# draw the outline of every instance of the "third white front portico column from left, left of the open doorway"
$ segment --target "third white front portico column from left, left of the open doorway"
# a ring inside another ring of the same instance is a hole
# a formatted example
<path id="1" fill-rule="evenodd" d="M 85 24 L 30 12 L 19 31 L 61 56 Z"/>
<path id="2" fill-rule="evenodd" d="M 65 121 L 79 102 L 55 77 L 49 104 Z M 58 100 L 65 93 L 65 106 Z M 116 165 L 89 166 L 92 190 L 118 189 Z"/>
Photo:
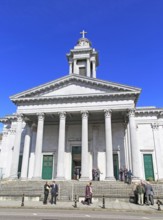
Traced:
<path id="1" fill-rule="evenodd" d="M 66 113 L 59 113 L 59 140 L 58 140 L 58 160 L 57 160 L 57 180 L 65 180 L 64 154 L 65 154 L 65 128 Z"/>

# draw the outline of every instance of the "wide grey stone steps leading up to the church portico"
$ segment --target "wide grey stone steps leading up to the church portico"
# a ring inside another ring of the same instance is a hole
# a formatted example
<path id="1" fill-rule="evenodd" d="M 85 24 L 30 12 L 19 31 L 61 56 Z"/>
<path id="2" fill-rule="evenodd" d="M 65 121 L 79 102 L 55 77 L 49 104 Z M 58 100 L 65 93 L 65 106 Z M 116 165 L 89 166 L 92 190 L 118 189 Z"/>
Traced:
<path id="1" fill-rule="evenodd" d="M 0 199 L 16 199 L 24 194 L 28 198 L 39 198 L 43 200 L 44 184 L 46 181 L 1 181 Z M 51 183 L 51 181 L 49 181 Z M 77 198 L 84 197 L 85 186 L 88 182 L 82 181 L 62 181 L 59 185 L 58 199 L 61 201 L 73 201 L 75 195 Z M 108 198 L 129 199 L 133 195 L 133 185 L 128 185 L 120 181 L 92 181 L 93 197 L 102 198 L 104 195 Z M 163 184 L 153 184 L 155 197 L 163 198 Z"/>

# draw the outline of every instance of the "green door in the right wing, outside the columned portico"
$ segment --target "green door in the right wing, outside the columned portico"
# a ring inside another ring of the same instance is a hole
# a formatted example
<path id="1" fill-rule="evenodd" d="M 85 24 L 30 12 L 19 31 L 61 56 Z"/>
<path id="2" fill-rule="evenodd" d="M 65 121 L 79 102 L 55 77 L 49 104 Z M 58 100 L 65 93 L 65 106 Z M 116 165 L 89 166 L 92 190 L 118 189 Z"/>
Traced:
<path id="1" fill-rule="evenodd" d="M 145 179 L 154 180 L 152 154 L 144 154 Z"/>

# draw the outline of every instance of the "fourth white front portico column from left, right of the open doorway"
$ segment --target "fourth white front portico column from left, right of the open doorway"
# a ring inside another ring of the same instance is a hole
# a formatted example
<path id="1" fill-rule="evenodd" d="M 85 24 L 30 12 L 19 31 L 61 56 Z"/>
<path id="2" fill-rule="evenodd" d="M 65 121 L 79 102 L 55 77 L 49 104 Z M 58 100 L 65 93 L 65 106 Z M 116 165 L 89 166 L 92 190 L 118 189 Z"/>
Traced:
<path id="1" fill-rule="evenodd" d="M 81 181 L 89 180 L 88 164 L 88 112 L 82 114 L 82 155 L 81 155 Z"/>

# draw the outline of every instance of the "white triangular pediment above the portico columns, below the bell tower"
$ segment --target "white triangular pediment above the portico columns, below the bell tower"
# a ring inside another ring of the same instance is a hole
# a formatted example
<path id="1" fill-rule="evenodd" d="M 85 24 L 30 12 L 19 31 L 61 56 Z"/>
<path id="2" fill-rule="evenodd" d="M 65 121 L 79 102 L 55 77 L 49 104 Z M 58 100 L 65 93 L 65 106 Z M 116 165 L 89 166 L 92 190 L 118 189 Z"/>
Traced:
<path id="1" fill-rule="evenodd" d="M 16 94 L 12 101 L 35 98 L 59 98 L 77 96 L 96 96 L 109 94 L 140 93 L 140 89 L 116 84 L 99 79 L 83 77 L 79 75 L 69 75 L 52 82 L 43 84 L 33 89 Z"/>

